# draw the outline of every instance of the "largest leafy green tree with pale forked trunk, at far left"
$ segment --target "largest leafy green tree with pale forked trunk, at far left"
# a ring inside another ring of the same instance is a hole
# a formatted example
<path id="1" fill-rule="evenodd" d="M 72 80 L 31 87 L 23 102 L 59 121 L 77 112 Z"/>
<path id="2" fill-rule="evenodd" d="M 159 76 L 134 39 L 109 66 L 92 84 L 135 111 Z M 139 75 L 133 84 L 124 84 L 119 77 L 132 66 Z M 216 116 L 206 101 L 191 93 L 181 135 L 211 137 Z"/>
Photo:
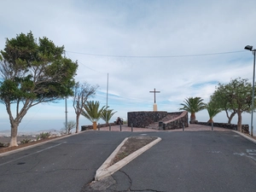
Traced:
<path id="1" fill-rule="evenodd" d="M 78 65 L 63 52 L 64 46 L 37 40 L 32 32 L 7 38 L 0 56 L 0 102 L 9 114 L 10 146 L 17 146 L 18 126 L 30 108 L 73 95 Z"/>

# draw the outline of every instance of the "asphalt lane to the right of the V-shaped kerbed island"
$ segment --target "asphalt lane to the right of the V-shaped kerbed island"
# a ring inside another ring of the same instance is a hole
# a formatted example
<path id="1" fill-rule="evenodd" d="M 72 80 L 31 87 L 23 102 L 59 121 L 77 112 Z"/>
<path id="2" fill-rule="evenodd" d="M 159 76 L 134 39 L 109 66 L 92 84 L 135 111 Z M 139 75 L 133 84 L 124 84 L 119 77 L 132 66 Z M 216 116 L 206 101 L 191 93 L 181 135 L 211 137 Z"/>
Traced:
<path id="1" fill-rule="evenodd" d="M 106 191 L 256 191 L 256 144 L 235 132 L 148 135 L 162 141 L 115 172 Z"/>

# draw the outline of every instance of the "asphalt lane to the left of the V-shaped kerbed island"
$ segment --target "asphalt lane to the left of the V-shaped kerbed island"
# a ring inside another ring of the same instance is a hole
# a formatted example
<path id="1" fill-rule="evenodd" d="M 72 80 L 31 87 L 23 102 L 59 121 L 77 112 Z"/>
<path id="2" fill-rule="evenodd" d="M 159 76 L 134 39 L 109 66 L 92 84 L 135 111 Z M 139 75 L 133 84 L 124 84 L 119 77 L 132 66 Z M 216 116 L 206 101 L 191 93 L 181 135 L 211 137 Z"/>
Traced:
<path id="1" fill-rule="evenodd" d="M 80 191 L 130 135 L 87 131 L 0 157 L 0 191 Z"/>

